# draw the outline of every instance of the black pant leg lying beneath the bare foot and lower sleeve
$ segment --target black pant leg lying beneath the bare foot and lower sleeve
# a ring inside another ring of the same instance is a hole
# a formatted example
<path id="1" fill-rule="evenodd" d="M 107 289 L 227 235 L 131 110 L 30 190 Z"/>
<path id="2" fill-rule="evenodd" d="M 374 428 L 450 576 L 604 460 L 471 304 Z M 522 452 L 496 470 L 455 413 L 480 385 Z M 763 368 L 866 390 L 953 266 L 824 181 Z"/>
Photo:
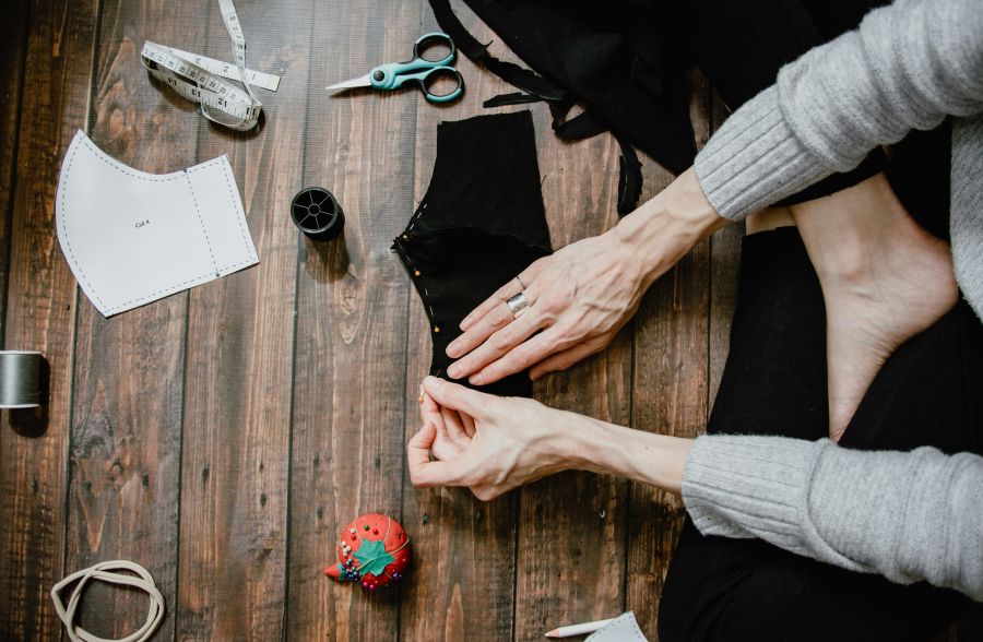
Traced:
<path id="1" fill-rule="evenodd" d="M 822 293 L 795 228 L 744 240 L 731 352 L 707 431 L 827 435 Z M 840 443 L 983 453 L 983 326 L 960 301 L 901 346 Z M 660 640 L 931 640 L 968 606 L 757 539 L 702 536 L 687 519 L 660 604 Z"/>

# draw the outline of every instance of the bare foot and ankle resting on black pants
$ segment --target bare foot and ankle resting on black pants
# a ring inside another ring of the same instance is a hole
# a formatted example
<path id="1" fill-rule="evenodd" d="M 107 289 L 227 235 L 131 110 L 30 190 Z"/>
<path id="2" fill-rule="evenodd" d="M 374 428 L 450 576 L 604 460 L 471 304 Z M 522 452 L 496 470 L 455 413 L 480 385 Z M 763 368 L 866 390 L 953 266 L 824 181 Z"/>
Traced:
<path id="1" fill-rule="evenodd" d="M 883 176 L 792 212 L 826 299 L 836 441 L 887 358 L 956 304 L 952 257 L 912 221 Z"/>

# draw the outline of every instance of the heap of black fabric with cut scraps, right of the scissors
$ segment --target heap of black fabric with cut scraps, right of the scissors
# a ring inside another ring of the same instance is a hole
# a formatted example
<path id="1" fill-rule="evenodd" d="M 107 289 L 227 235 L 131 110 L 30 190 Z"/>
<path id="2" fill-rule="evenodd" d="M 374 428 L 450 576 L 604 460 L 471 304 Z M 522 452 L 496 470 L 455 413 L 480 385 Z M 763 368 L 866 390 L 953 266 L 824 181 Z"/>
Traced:
<path id="1" fill-rule="evenodd" d="M 448 0 L 430 0 L 440 27 L 455 43 L 472 45 L 461 51 L 528 92 L 493 98 L 488 106 L 544 99 L 550 104 L 557 135 L 578 140 L 611 130 L 619 139 L 619 214 L 636 207 L 641 191 L 640 165 L 631 145 L 677 174 L 692 164 L 696 146 L 686 80 L 672 49 L 662 47 L 666 23 L 660 15 L 624 1 L 602 5 L 596 0 L 467 0 L 467 4 L 548 87 L 562 91 L 541 92 L 514 69 L 502 72 L 501 61 L 485 46 L 473 46 L 477 40 Z M 567 120 L 576 99 L 583 99 L 587 111 Z"/>

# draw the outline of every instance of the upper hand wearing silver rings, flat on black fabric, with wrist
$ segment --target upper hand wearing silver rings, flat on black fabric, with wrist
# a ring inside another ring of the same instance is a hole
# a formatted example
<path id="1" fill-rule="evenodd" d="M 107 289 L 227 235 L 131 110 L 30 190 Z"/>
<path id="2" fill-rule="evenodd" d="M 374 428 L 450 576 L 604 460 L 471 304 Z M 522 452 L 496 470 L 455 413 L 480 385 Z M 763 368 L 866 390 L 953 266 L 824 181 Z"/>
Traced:
<path id="1" fill-rule="evenodd" d="M 458 358 L 448 374 L 484 385 L 530 368 L 537 379 L 604 349 L 646 289 L 723 223 L 687 171 L 613 229 L 540 259 L 475 308 L 447 347 Z M 529 307 L 517 318 L 506 300 L 519 292 Z"/>

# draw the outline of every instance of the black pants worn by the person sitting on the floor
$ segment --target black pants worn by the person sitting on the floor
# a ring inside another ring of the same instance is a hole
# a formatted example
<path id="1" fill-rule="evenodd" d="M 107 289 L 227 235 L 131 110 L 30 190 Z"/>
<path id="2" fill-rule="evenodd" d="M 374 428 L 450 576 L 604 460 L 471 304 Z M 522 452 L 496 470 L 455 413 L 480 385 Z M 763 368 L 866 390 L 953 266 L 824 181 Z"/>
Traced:
<path id="1" fill-rule="evenodd" d="M 880 2 L 698 3 L 707 11 L 701 67 L 732 107 L 768 86 L 785 59 L 858 24 Z M 745 11 L 748 10 L 749 11 Z M 738 22 L 744 28 L 729 28 Z M 757 25 L 749 28 L 750 24 Z M 798 47 L 804 46 L 803 50 Z M 949 131 L 915 132 L 855 170 L 796 194 L 831 193 L 885 171 L 926 229 L 948 237 Z M 983 452 L 983 325 L 960 301 L 902 346 L 871 385 L 840 443 L 855 449 Z M 707 431 L 815 440 L 828 432 L 825 304 L 795 228 L 744 240 L 731 352 Z M 765 542 L 703 537 L 687 519 L 659 613 L 660 639 L 931 640 L 969 599 L 893 584 Z"/>

